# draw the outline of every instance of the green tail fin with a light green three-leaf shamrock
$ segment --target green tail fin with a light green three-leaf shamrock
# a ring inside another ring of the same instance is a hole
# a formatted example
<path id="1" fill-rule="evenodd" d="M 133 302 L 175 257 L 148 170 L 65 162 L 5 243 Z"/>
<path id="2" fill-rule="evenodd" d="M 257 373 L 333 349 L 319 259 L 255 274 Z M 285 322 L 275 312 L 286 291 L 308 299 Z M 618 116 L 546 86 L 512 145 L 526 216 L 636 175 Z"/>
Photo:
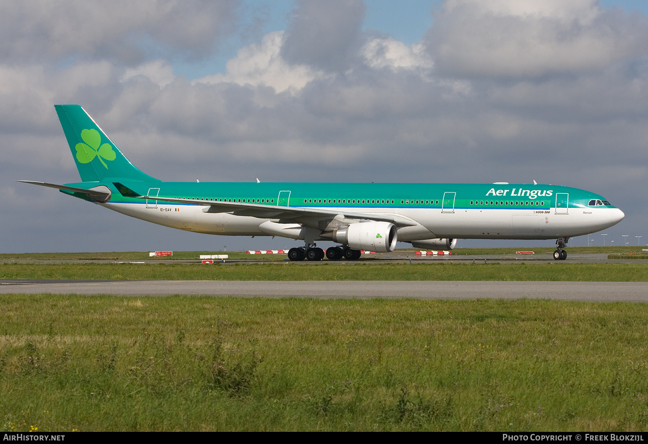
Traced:
<path id="1" fill-rule="evenodd" d="M 135 168 L 80 105 L 54 105 L 84 182 L 158 182 Z"/>

